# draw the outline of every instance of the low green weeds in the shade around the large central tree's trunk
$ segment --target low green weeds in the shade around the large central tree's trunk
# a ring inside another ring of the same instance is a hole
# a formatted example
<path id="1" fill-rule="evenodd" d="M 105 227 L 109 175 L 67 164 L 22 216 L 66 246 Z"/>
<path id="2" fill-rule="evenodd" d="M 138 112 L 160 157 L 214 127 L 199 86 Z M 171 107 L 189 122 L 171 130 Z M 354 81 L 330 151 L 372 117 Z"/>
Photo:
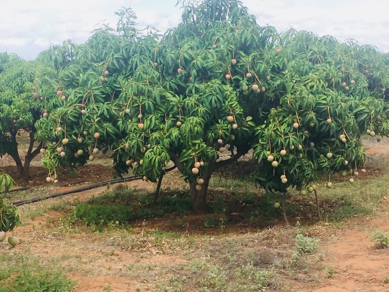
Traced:
<path id="1" fill-rule="evenodd" d="M 228 196 L 215 195 L 207 203 L 208 209 L 210 213 L 221 216 L 207 215 L 204 225 L 223 228 L 226 224 L 242 221 L 252 225 L 269 225 L 272 220 L 282 215 L 282 210 L 274 207 L 274 202 L 280 199 L 280 194 L 262 195 L 249 190 L 242 193 L 231 192 Z M 294 214 L 292 207 L 292 205 L 287 207 L 288 215 Z M 137 193 L 135 189 L 119 187 L 77 204 L 73 214 L 86 226 L 102 231 L 105 225 L 116 224 L 116 226 L 127 227 L 131 220 L 163 216 L 174 219 L 191 213 L 192 209 L 191 198 L 184 190 L 162 192 L 154 206 L 153 194 Z M 181 223 L 182 227 L 187 225 L 185 222 Z"/>

